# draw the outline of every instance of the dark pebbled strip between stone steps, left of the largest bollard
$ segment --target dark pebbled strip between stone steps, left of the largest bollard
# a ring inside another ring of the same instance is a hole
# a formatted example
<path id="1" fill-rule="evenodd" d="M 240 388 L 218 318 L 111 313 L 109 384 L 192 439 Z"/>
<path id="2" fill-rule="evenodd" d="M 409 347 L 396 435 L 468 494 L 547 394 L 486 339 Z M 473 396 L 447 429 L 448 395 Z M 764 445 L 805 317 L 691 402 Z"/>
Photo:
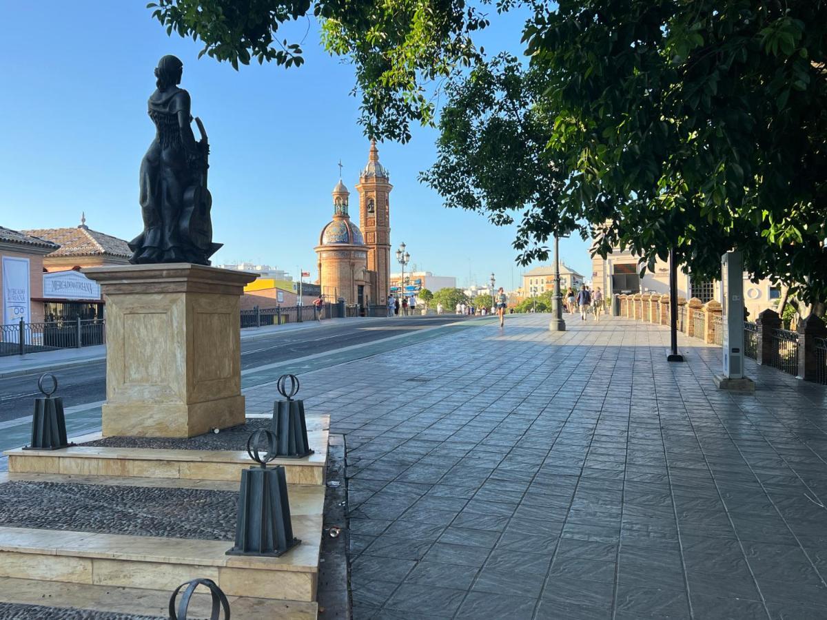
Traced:
<path id="1" fill-rule="evenodd" d="M 232 541 L 237 501 L 233 491 L 14 481 L 0 484 L 0 525 Z"/>

